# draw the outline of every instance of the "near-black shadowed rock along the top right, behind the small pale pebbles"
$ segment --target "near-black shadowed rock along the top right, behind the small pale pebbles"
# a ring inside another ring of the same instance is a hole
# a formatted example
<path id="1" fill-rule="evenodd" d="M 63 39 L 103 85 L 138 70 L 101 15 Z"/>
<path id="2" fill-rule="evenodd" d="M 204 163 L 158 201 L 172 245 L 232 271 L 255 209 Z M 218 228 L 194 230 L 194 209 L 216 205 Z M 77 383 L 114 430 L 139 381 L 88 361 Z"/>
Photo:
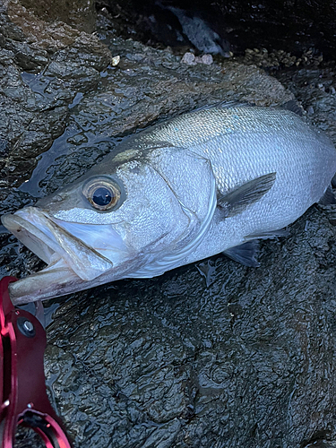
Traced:
<path id="1" fill-rule="evenodd" d="M 99 0 L 124 37 L 170 47 L 194 47 L 211 29 L 215 53 L 267 47 L 301 56 L 309 48 L 334 60 L 336 4 L 333 0 Z M 188 23 L 188 30 L 186 30 Z M 208 33 L 209 34 L 209 33 Z M 194 39 L 193 39 L 194 36 Z M 286 64 L 290 64 L 287 61 Z"/>

